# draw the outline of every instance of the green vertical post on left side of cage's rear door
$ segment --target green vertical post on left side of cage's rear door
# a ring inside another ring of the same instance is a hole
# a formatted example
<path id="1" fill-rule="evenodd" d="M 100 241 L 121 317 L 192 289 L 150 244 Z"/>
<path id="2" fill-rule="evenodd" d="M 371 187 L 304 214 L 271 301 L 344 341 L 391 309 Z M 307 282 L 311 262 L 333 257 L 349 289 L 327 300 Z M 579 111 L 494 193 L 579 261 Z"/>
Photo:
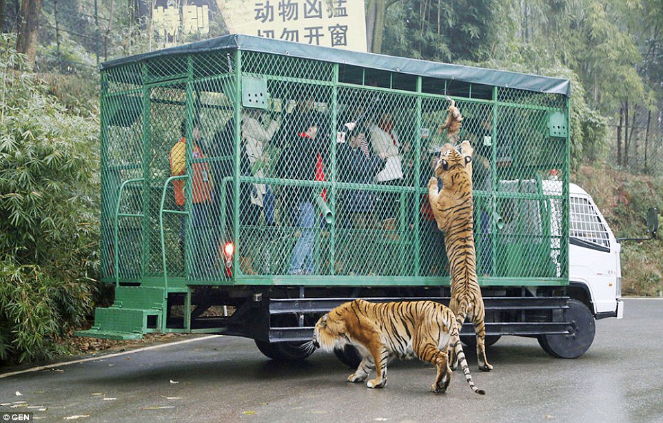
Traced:
<path id="1" fill-rule="evenodd" d="M 141 65 L 143 72 L 143 81 L 147 80 L 147 64 Z M 147 268 L 150 265 L 150 87 L 143 84 L 143 227 L 141 228 L 141 238 L 143 238 L 143 258 L 141 266 L 141 276 L 147 274 Z"/>

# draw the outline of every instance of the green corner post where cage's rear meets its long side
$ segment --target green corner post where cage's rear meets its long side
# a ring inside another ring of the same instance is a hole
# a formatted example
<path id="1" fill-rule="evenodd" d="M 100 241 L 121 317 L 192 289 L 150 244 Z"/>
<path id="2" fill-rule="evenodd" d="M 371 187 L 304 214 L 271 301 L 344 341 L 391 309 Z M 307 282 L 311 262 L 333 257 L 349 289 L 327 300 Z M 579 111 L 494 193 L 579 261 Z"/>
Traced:
<path id="1" fill-rule="evenodd" d="M 233 180 L 232 180 L 232 242 L 235 245 L 235 254 L 232 255 L 233 276 L 236 277 L 239 271 L 238 254 L 242 248 L 239 244 L 239 162 L 240 149 L 242 147 L 242 50 L 235 50 L 235 89 L 233 99 L 233 117 L 234 127 L 234 150 L 233 150 Z"/>

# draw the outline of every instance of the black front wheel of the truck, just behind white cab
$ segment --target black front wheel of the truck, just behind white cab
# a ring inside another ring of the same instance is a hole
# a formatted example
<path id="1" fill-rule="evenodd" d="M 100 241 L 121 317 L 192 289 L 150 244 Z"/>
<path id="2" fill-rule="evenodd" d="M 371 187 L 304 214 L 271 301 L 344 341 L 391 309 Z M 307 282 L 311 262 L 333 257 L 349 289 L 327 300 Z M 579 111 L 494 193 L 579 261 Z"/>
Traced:
<path id="1" fill-rule="evenodd" d="M 589 349 L 596 333 L 594 316 L 586 305 L 578 300 L 569 300 L 567 305 L 564 320 L 571 322 L 572 333 L 538 336 L 543 351 L 556 358 L 580 357 Z"/>

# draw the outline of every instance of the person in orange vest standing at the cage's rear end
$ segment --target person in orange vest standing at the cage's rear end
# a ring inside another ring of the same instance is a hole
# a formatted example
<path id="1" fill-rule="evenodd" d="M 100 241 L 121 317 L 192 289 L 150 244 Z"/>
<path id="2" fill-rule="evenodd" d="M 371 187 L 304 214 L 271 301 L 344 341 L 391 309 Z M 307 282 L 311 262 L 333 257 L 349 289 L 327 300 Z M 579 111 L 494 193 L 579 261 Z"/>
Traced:
<path id="1" fill-rule="evenodd" d="M 192 129 L 192 162 L 193 171 L 189 173 L 192 178 L 192 207 L 191 207 L 191 234 L 192 243 L 192 271 L 204 276 L 210 270 L 209 267 L 216 260 L 212 245 L 212 234 L 210 233 L 210 219 L 212 218 L 211 205 L 214 199 L 214 183 L 210 165 L 207 162 L 199 162 L 198 159 L 207 158 L 201 148 L 201 130 L 198 123 L 193 123 Z M 170 173 L 179 176 L 186 173 L 186 122 L 181 125 L 180 140 L 170 149 Z M 179 179 L 173 181 L 175 203 L 179 206 L 185 204 L 187 180 Z M 181 243 L 185 241 L 186 220 L 182 219 Z"/>

